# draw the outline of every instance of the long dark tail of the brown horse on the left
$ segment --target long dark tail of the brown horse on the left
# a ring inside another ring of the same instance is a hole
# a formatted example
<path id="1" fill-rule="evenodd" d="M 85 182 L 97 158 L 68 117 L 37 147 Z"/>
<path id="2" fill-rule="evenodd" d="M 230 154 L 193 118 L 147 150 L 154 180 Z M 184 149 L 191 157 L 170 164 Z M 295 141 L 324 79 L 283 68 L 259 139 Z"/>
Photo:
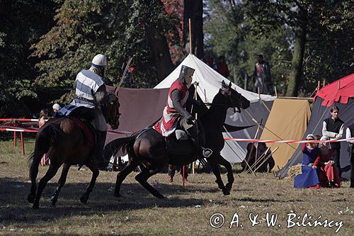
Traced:
<path id="1" fill-rule="evenodd" d="M 35 179 L 38 174 L 38 166 L 43 154 L 47 153 L 50 146 L 55 145 L 57 138 L 66 135 L 58 124 L 51 123 L 40 130 L 35 137 L 35 150 L 30 154 L 28 165 L 30 179 Z"/>

